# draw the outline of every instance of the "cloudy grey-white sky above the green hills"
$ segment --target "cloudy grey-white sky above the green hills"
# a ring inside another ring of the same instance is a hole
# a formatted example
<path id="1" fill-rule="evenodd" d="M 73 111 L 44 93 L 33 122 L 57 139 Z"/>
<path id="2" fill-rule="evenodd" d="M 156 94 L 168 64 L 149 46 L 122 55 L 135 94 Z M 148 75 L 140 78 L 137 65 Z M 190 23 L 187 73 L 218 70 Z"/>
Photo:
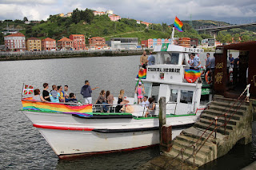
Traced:
<path id="1" fill-rule="evenodd" d="M 256 22 L 255 0 L 0 0 L 0 20 L 46 20 L 50 14 L 74 9 L 106 11 L 122 18 L 172 24 L 180 20 L 204 19 L 225 22 Z"/>

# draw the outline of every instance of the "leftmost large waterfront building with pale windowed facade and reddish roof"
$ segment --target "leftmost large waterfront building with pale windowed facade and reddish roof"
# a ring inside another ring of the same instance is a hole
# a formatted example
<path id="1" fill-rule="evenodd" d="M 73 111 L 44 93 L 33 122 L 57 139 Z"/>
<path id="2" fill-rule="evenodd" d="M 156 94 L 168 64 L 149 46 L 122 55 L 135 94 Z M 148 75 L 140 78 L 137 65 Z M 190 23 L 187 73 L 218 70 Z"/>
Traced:
<path id="1" fill-rule="evenodd" d="M 25 51 L 26 37 L 22 33 L 10 34 L 4 37 L 7 51 Z"/>

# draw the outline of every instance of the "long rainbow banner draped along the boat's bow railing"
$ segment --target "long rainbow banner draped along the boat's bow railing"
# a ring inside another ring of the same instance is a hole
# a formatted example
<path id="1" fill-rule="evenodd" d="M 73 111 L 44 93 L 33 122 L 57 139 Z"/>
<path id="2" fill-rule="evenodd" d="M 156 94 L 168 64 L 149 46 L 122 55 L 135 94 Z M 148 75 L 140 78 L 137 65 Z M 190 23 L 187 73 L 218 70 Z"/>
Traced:
<path id="1" fill-rule="evenodd" d="M 70 113 L 92 116 L 92 105 L 81 105 L 81 106 L 70 106 L 60 103 L 50 103 L 50 102 L 41 102 L 34 101 L 32 97 L 22 99 L 22 107 L 24 110 L 35 110 L 46 113 Z"/>

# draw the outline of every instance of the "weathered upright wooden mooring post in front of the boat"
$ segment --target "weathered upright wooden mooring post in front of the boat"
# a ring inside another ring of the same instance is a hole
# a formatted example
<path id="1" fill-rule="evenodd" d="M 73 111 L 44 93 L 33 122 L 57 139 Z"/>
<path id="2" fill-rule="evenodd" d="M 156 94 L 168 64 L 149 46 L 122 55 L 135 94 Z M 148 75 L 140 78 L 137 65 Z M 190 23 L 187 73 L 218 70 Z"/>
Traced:
<path id="1" fill-rule="evenodd" d="M 166 97 L 160 97 L 159 100 L 159 141 L 160 141 L 160 152 L 162 152 L 161 141 L 162 141 L 162 126 L 166 125 Z"/>

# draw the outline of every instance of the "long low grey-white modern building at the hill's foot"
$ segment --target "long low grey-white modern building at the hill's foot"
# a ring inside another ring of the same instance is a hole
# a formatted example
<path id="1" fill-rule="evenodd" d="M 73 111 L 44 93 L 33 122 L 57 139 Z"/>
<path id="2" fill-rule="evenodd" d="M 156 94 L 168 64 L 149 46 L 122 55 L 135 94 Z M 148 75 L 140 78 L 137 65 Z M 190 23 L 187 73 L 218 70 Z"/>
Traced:
<path id="1" fill-rule="evenodd" d="M 134 49 L 138 46 L 138 38 L 111 38 L 112 49 Z"/>

